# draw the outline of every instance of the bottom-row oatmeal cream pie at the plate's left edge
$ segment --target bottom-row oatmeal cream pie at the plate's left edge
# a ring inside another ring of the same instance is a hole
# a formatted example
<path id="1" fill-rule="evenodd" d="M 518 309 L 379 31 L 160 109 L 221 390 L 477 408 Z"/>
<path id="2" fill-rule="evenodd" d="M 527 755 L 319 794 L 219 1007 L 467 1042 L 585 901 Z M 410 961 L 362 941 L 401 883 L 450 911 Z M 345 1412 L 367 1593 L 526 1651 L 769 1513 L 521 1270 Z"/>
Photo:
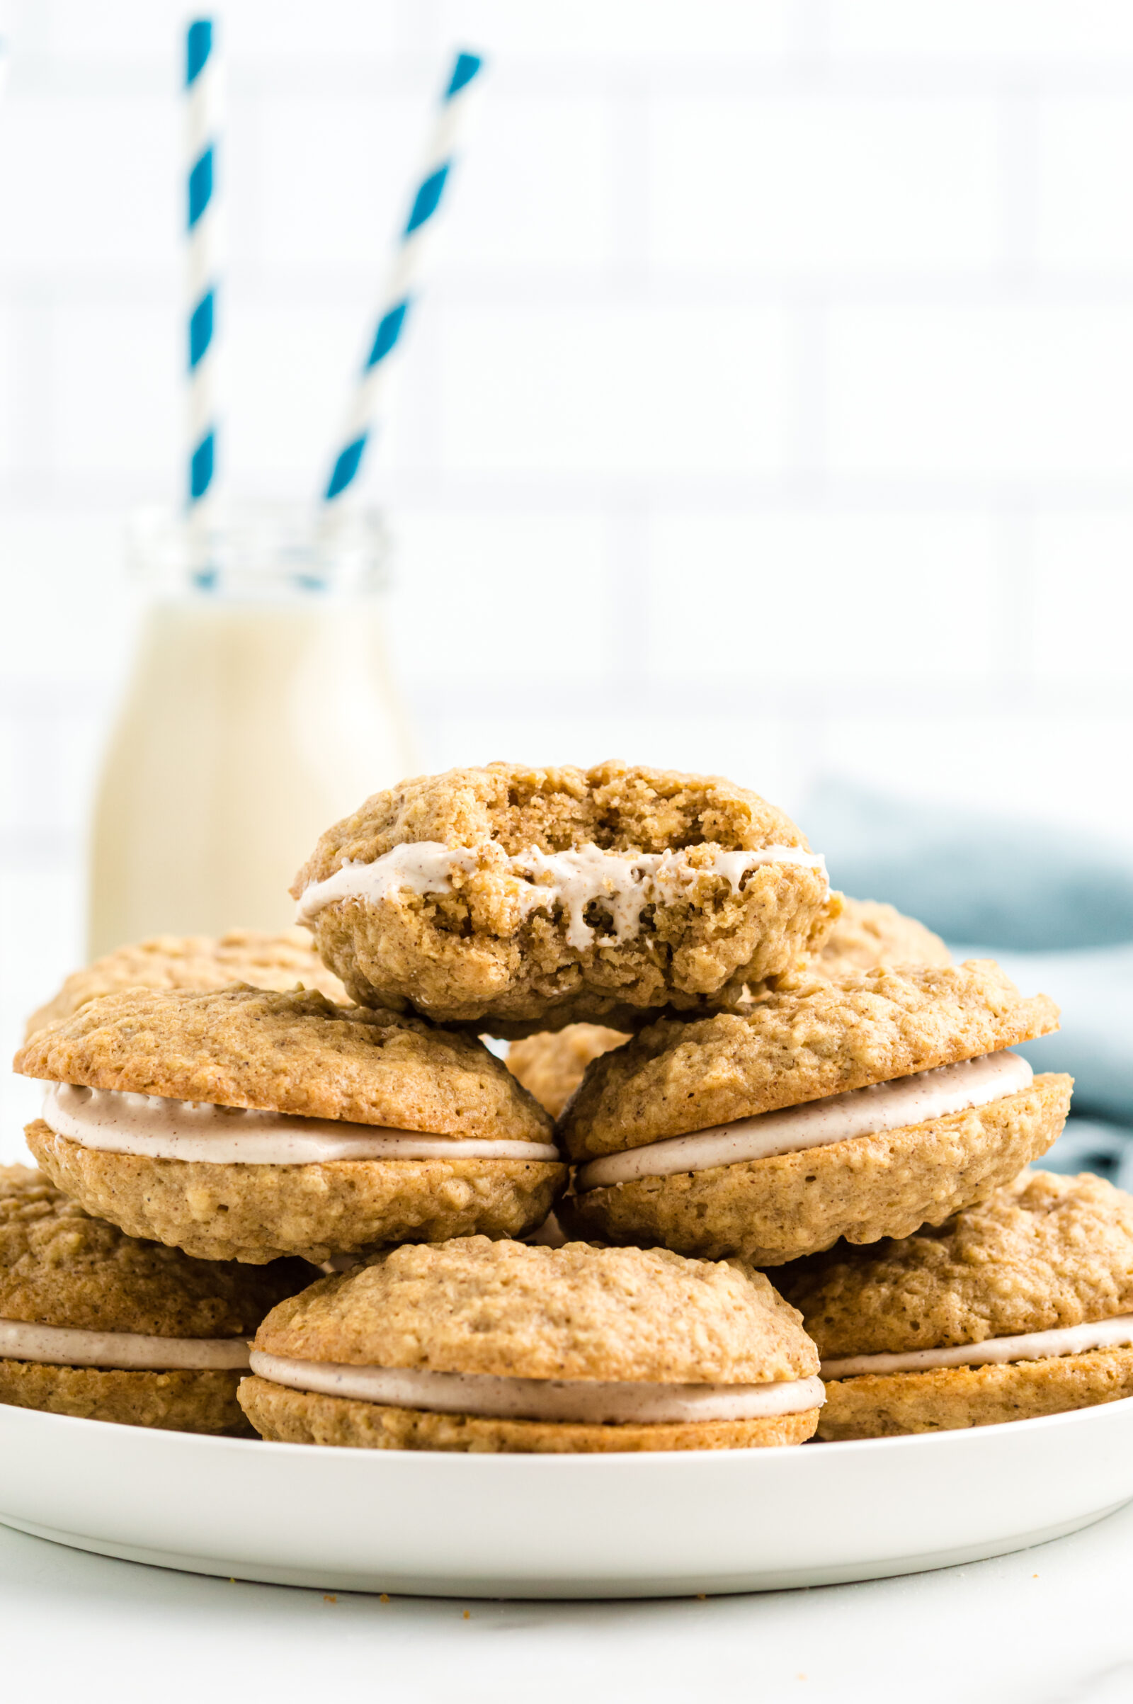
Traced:
<path id="1" fill-rule="evenodd" d="M 249 1436 L 247 1343 L 310 1283 L 138 1242 L 27 1166 L 0 1167 L 0 1402 L 165 1431 Z"/>

